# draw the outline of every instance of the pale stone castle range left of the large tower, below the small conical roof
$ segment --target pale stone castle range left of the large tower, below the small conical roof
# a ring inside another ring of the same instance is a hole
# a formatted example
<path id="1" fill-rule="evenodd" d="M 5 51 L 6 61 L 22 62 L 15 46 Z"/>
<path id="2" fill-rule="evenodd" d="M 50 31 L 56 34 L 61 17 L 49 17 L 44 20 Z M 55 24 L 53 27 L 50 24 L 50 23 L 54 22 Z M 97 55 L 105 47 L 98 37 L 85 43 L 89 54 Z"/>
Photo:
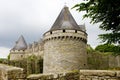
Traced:
<path id="1" fill-rule="evenodd" d="M 28 58 L 31 55 L 39 56 L 43 58 L 43 46 L 44 43 L 42 40 L 34 42 L 27 46 L 25 50 L 11 50 L 10 51 L 10 60 L 22 60 Z"/>

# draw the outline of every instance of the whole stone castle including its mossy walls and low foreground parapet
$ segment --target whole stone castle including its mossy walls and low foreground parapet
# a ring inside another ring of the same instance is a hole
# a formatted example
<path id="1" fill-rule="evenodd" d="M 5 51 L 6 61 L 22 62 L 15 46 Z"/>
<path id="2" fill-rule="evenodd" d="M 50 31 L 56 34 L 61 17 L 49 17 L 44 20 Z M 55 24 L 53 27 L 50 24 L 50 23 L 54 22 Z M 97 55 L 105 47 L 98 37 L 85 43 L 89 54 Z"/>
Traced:
<path id="1" fill-rule="evenodd" d="M 0 63 L 0 80 L 120 80 L 120 71 L 108 70 L 120 69 L 120 56 L 86 45 L 85 25 L 78 25 L 65 6 L 40 41 L 27 45 L 20 36 L 10 60 Z"/>

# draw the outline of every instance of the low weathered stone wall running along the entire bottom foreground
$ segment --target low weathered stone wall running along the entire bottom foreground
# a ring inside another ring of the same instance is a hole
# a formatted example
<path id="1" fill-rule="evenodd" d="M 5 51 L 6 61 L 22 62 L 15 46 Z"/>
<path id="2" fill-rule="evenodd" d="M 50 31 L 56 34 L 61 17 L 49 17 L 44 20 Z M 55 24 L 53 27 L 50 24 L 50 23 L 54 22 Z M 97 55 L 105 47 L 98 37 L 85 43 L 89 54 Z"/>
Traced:
<path id="1" fill-rule="evenodd" d="M 58 74 L 26 75 L 22 68 L 0 64 L 0 80 L 120 80 L 120 71 L 80 70 Z"/>

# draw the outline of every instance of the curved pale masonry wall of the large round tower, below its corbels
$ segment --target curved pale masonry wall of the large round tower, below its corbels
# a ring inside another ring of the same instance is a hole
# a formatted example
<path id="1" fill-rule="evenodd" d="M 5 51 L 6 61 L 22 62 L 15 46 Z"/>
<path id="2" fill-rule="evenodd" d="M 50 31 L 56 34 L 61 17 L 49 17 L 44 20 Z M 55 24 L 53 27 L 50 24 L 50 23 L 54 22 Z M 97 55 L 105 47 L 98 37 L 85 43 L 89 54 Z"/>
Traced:
<path id="1" fill-rule="evenodd" d="M 86 68 L 85 43 L 82 41 L 52 40 L 46 42 L 45 47 L 44 73 Z"/>

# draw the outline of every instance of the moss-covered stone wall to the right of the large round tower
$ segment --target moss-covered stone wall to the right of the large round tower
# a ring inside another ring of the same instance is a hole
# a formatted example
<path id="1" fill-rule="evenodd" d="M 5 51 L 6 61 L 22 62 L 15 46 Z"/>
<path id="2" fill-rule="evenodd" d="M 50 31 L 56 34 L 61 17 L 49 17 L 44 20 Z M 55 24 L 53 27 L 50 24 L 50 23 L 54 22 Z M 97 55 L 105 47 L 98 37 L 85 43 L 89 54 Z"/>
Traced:
<path id="1" fill-rule="evenodd" d="M 114 56 L 110 52 L 101 53 L 98 51 L 87 52 L 88 69 L 108 70 L 120 69 L 120 55 Z"/>

